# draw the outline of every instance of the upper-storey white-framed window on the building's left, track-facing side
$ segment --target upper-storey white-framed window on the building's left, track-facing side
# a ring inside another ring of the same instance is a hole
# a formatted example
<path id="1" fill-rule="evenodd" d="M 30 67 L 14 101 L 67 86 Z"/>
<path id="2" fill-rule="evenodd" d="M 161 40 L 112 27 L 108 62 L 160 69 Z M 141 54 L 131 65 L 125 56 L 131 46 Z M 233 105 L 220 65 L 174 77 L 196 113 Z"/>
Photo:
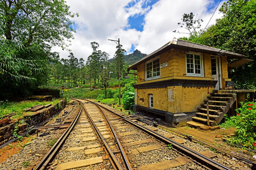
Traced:
<path id="1" fill-rule="evenodd" d="M 160 59 L 151 59 L 145 65 L 146 80 L 160 78 Z"/>

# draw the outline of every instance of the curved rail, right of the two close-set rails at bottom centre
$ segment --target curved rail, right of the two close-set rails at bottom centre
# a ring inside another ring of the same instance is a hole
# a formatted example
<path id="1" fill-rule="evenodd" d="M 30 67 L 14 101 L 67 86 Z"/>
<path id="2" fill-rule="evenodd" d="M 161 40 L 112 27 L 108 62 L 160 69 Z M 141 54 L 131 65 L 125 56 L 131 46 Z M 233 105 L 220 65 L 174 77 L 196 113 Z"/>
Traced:
<path id="1" fill-rule="evenodd" d="M 83 100 L 86 100 L 86 99 L 83 99 Z M 86 100 L 86 101 L 89 101 L 89 100 Z M 91 102 L 91 101 L 90 101 L 90 102 Z M 95 105 L 101 110 L 100 106 L 98 106 L 98 105 L 97 105 L 96 103 L 94 103 L 94 102 L 92 102 L 92 103 L 95 104 Z M 128 161 L 128 158 L 127 158 L 127 156 L 126 156 L 126 154 L 125 154 L 125 152 L 124 152 L 124 149 L 123 149 L 123 147 L 122 147 L 122 145 L 121 145 L 121 143 L 120 143 L 120 141 L 119 141 L 119 138 L 118 138 L 118 136 L 117 136 L 117 134 L 116 134 L 114 128 L 111 126 L 109 119 L 107 118 L 107 116 L 105 115 L 105 113 L 104 113 L 102 110 L 101 110 L 101 113 L 102 113 L 102 115 L 104 116 L 105 120 L 107 121 L 108 126 L 110 127 L 110 129 L 111 129 L 111 131 L 112 131 L 112 134 L 113 134 L 113 136 L 114 136 L 114 139 L 115 139 L 115 141 L 117 142 L 117 145 L 118 145 L 118 147 L 119 147 L 119 151 L 120 151 L 120 153 L 121 153 L 121 155 L 122 155 L 122 158 L 123 158 L 123 160 L 124 160 L 124 164 L 125 164 L 126 169 L 127 169 L 127 170 L 132 170 L 132 167 L 131 167 L 131 165 L 130 165 L 130 162 Z"/>

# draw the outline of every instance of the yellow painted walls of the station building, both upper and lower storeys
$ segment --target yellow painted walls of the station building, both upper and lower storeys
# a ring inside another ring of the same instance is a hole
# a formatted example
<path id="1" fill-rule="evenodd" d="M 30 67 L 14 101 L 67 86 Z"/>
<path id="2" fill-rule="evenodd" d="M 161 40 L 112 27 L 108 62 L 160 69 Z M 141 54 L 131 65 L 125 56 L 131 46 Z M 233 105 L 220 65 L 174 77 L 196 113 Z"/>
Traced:
<path id="1" fill-rule="evenodd" d="M 167 67 L 160 68 L 161 78 L 145 81 L 145 63 L 142 63 L 137 67 L 137 85 L 170 79 L 214 80 L 211 75 L 211 54 L 201 54 L 203 57 L 203 76 L 187 76 L 186 51 L 170 49 L 158 56 L 160 57 L 160 64 L 168 63 Z M 155 57 L 155 59 L 158 57 Z M 220 57 L 220 63 L 221 83 L 222 89 L 224 89 L 225 81 L 230 81 L 228 79 L 227 58 Z M 154 109 L 172 113 L 196 111 L 213 89 L 214 87 L 183 86 L 135 89 L 137 96 L 137 98 L 135 96 L 135 104 L 149 107 L 149 94 L 153 94 Z"/>

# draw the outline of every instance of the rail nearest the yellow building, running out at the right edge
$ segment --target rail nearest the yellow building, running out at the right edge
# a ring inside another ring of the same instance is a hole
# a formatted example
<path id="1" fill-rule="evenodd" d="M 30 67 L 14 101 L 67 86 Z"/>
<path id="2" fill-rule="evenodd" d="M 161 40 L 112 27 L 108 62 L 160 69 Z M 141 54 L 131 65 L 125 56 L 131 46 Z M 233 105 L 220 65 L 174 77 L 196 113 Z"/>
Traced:
<path id="1" fill-rule="evenodd" d="M 165 128 L 165 129 L 167 129 L 167 130 L 169 130 L 169 131 L 172 131 L 173 133 L 176 133 L 176 134 L 179 134 L 179 135 L 181 135 L 181 136 L 186 137 L 186 138 L 187 138 L 188 140 L 190 140 L 190 141 L 191 141 L 191 140 L 194 140 L 194 141 L 196 141 L 196 142 L 200 142 L 200 143 L 202 143 L 202 144 L 205 144 L 205 145 L 207 145 L 207 146 L 209 146 L 209 147 L 212 147 L 212 148 L 218 150 L 219 152 L 226 153 L 226 154 L 228 154 L 228 155 L 230 155 L 230 156 L 233 156 L 233 157 L 237 158 L 238 160 L 245 161 L 245 162 L 247 162 L 247 163 L 249 163 L 249 164 L 252 164 L 253 166 L 256 166 L 256 163 L 254 163 L 253 161 L 250 161 L 250 160 L 247 160 L 247 159 L 242 158 L 242 157 L 240 157 L 240 156 L 237 156 L 237 155 L 235 155 L 235 154 L 229 153 L 229 152 L 227 152 L 227 151 L 225 151 L 225 150 L 222 150 L 222 149 L 220 149 L 220 148 L 218 148 L 218 147 L 216 147 L 216 146 L 213 146 L 213 145 L 211 145 L 211 144 L 207 144 L 206 142 L 202 142 L 202 141 L 200 141 L 200 140 L 198 140 L 198 139 L 193 138 L 192 136 L 184 135 L 184 134 L 182 134 L 182 133 L 180 133 L 180 132 L 177 132 L 177 131 L 175 131 L 175 130 L 169 128 L 169 127 L 165 127 L 165 126 L 163 126 L 163 125 L 160 125 L 159 123 L 155 123 L 155 122 L 153 122 L 153 121 L 151 121 L 151 120 L 144 119 L 144 118 L 142 118 L 142 117 L 140 117 L 140 116 L 137 116 L 137 115 L 135 115 L 135 116 L 136 116 L 138 119 L 144 120 L 144 122 L 146 121 L 146 122 L 149 122 L 149 124 L 152 124 L 152 125 L 154 125 L 154 126 L 158 126 L 158 127 Z"/>

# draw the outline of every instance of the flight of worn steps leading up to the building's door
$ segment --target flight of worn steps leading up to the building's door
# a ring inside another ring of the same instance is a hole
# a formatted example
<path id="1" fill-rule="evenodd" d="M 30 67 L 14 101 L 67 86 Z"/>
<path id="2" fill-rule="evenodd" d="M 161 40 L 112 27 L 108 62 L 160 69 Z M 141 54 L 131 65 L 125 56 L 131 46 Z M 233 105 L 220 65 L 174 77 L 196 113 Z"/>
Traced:
<path id="1" fill-rule="evenodd" d="M 236 101 L 236 94 L 225 90 L 214 90 L 207 98 L 208 100 L 201 104 L 201 108 L 198 108 L 196 116 L 192 117 L 192 121 L 187 122 L 189 126 L 207 126 L 207 102 L 209 102 L 210 126 L 218 125 Z"/>

